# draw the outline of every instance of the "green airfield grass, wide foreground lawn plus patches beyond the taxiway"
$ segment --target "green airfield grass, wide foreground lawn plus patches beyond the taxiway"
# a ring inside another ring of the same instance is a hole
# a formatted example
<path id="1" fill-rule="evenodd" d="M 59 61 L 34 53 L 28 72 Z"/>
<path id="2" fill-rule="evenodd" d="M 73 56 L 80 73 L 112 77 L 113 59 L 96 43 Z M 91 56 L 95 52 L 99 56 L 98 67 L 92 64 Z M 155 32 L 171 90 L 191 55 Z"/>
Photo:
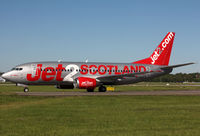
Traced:
<path id="1" fill-rule="evenodd" d="M 119 86 L 119 90 L 159 87 L 165 90 L 169 86 L 154 87 L 158 86 Z M 33 97 L 14 94 L 22 89 L 0 85 L 0 136 L 200 134 L 200 96 Z M 30 89 L 57 91 L 51 86 Z"/>

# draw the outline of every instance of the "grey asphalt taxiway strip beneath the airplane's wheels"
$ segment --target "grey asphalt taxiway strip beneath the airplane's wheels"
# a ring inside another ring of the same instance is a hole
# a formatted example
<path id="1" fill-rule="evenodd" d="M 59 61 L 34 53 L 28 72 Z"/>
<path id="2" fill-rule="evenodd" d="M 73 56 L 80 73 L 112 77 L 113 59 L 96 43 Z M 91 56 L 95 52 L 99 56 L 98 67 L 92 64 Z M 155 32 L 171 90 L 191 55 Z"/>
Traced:
<path id="1" fill-rule="evenodd" d="M 116 91 L 116 92 L 16 92 L 21 96 L 200 96 L 200 90 L 193 91 Z"/>

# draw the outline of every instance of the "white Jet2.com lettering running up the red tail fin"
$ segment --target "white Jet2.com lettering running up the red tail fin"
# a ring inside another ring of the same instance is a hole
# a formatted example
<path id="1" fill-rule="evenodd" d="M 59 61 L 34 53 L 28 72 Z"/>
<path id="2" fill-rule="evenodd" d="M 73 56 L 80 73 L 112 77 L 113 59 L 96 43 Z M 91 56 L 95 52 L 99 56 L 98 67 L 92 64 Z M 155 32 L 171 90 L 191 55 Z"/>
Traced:
<path id="1" fill-rule="evenodd" d="M 174 34 L 172 32 L 170 32 L 166 38 L 162 41 L 162 43 L 156 48 L 156 50 L 154 51 L 154 53 L 151 55 L 151 64 L 154 64 L 156 62 L 156 60 L 159 58 L 159 56 L 161 55 L 161 53 L 167 48 L 167 46 L 169 45 L 170 41 L 172 40 L 172 38 L 174 37 Z"/>

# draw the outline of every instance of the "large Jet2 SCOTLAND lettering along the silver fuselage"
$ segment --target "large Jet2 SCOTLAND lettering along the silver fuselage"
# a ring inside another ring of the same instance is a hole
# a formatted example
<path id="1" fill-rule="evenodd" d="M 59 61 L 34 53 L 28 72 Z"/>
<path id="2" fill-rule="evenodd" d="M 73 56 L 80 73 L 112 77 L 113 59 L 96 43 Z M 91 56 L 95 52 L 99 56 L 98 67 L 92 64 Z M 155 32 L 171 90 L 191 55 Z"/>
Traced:
<path id="1" fill-rule="evenodd" d="M 70 70 L 68 67 L 70 66 Z M 78 69 L 77 69 L 78 68 Z M 114 75 L 120 75 L 120 74 L 129 74 L 129 73 L 135 73 L 135 72 L 145 72 L 147 69 L 143 65 L 124 65 L 123 69 L 119 69 L 118 65 L 86 65 L 83 64 L 80 66 L 80 69 L 77 65 L 70 64 L 68 66 L 63 67 L 62 64 L 58 64 L 56 68 L 54 67 L 46 67 L 42 68 L 42 64 L 37 64 L 36 73 L 35 74 L 27 74 L 26 78 L 28 81 L 38 81 L 40 78 L 43 81 L 63 81 L 63 77 L 61 77 L 62 72 L 70 72 L 67 73 L 68 78 L 73 77 L 75 74 L 80 72 L 81 75 L 105 75 L 105 74 L 114 74 Z"/>

